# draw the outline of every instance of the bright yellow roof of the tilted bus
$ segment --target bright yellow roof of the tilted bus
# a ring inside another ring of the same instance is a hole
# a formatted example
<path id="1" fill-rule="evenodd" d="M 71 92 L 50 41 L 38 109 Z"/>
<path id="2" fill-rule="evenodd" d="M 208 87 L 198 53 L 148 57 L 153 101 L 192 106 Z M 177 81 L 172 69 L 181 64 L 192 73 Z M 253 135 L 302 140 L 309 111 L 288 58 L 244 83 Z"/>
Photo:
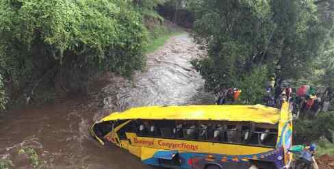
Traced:
<path id="1" fill-rule="evenodd" d="M 110 120 L 224 120 L 277 124 L 280 109 L 264 105 L 188 105 L 153 106 L 128 109 L 110 114 L 101 121 Z"/>

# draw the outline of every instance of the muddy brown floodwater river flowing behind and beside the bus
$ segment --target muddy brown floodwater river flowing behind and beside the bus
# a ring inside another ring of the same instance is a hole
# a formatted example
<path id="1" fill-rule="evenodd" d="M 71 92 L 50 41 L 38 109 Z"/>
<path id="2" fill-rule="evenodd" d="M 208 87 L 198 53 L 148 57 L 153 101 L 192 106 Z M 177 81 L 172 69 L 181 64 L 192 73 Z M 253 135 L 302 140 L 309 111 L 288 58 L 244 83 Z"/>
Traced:
<path id="1" fill-rule="evenodd" d="M 133 81 L 107 79 L 92 98 L 64 99 L 13 110 L 1 119 L 0 159 L 15 160 L 18 148 L 34 147 L 45 168 L 150 168 L 127 151 L 101 146 L 88 127 L 110 112 L 144 105 L 210 103 L 204 81 L 190 60 L 203 54 L 188 34 L 174 36 L 148 55 L 147 68 Z"/>

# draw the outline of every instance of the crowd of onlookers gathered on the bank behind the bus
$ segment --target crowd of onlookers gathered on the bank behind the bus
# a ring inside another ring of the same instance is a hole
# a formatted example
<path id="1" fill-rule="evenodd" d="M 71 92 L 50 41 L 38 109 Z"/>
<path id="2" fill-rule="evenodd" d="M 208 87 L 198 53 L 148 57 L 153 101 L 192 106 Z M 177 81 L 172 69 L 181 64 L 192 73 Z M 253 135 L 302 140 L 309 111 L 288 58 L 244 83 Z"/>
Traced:
<path id="1" fill-rule="evenodd" d="M 239 88 L 221 89 L 217 92 L 216 105 L 231 104 L 240 101 L 242 90 Z M 264 105 L 280 108 L 282 103 L 288 101 L 294 115 L 317 116 L 319 112 L 328 112 L 333 91 L 327 88 L 317 92 L 316 88 L 303 85 L 299 88 L 292 88 L 290 81 L 280 79 L 272 75 L 264 95 Z"/>

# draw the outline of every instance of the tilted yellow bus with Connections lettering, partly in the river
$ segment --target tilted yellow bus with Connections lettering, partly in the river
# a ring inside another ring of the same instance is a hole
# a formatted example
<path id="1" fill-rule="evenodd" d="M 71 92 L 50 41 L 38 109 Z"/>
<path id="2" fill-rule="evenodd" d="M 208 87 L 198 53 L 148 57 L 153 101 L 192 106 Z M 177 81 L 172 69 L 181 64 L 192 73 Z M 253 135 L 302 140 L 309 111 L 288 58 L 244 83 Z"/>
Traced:
<path id="1" fill-rule="evenodd" d="M 263 105 L 138 107 L 97 122 L 91 134 L 164 168 L 290 168 L 292 115 Z"/>

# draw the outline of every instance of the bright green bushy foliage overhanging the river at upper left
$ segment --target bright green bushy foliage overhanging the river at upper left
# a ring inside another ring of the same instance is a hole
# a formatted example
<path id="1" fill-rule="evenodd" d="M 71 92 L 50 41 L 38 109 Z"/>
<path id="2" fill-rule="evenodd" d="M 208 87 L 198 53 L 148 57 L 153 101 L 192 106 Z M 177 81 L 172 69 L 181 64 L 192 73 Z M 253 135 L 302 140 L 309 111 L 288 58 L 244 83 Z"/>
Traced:
<path id="1" fill-rule="evenodd" d="M 146 29 L 131 1 L 3 0 L 0 38 L 0 74 L 22 90 L 59 73 L 81 83 L 97 71 L 129 77 L 144 66 Z"/>

